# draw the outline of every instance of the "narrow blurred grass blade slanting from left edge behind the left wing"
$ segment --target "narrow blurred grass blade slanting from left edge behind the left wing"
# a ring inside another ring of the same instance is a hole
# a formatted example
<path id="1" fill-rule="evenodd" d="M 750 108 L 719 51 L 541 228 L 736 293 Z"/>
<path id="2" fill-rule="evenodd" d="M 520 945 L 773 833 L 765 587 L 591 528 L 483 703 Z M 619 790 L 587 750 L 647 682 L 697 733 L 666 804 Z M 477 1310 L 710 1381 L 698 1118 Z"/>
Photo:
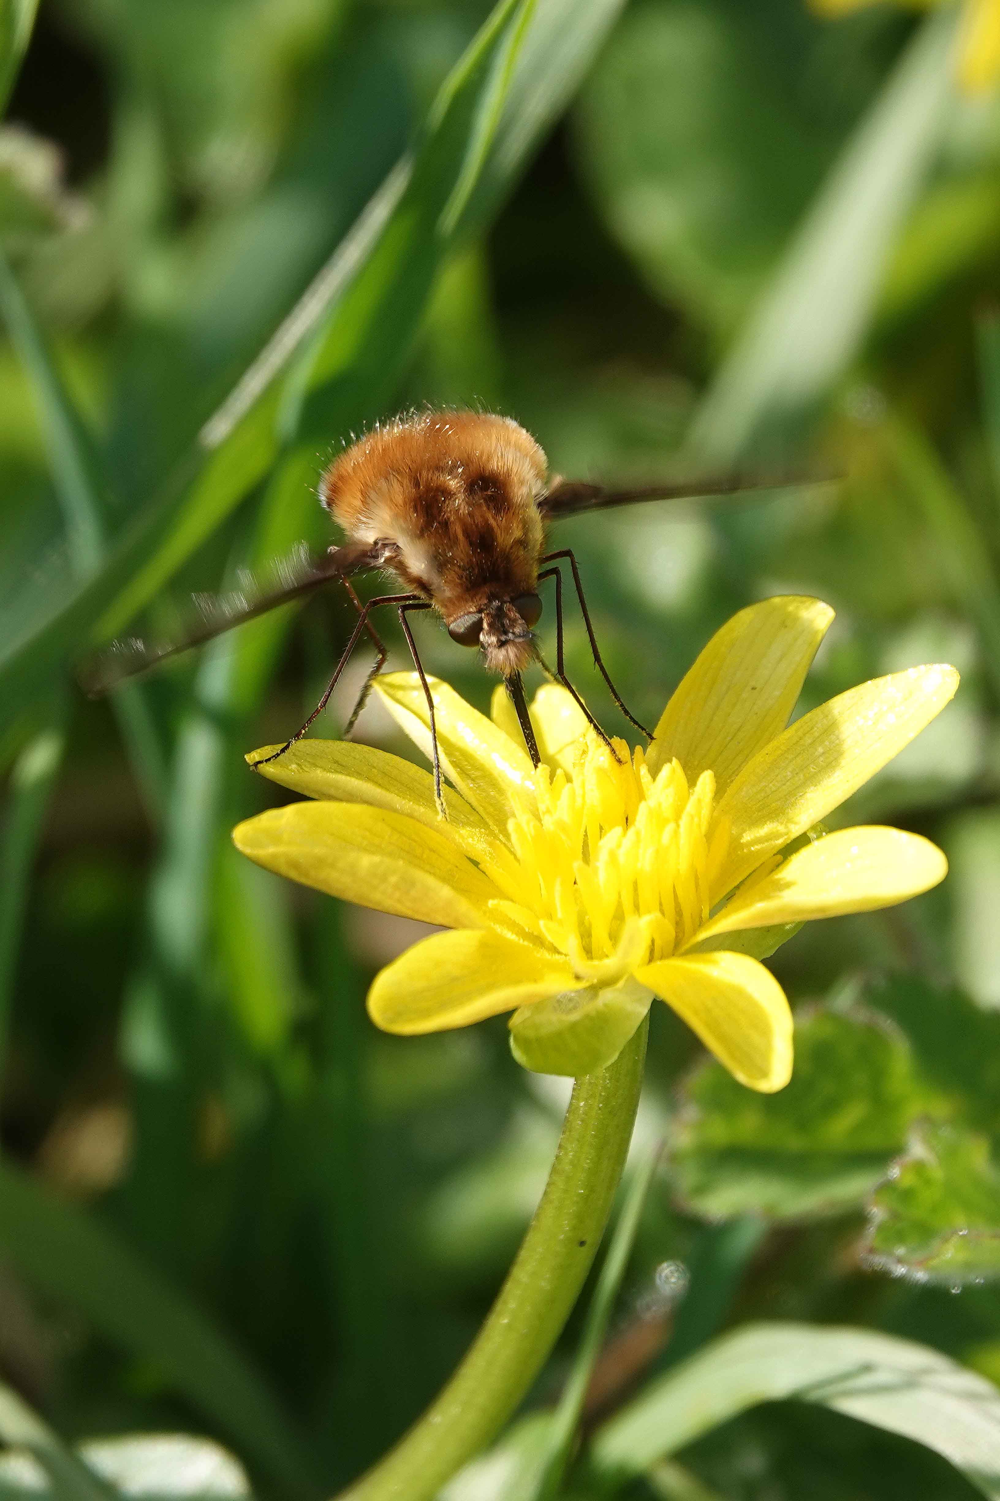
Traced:
<path id="1" fill-rule="evenodd" d="M 3 251 L 0 311 L 37 405 L 55 494 L 63 509 L 70 563 L 76 578 L 85 582 L 105 557 L 106 480 L 90 434 Z M 145 693 L 138 683 L 129 683 L 114 693 L 112 702 L 136 782 L 156 821 L 163 808 L 166 767 Z"/>

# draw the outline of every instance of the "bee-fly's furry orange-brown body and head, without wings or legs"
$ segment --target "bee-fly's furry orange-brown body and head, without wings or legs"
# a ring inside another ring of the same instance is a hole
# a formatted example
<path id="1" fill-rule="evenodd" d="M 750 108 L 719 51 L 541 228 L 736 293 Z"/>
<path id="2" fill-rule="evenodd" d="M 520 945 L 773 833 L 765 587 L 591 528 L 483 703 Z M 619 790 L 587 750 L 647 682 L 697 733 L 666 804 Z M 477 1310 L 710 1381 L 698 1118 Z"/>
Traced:
<path id="1" fill-rule="evenodd" d="M 474 411 L 397 419 L 327 468 L 319 498 L 355 542 L 445 623 L 483 614 L 486 665 L 508 677 L 532 656 L 513 606 L 538 582 L 547 459 L 510 417 Z"/>

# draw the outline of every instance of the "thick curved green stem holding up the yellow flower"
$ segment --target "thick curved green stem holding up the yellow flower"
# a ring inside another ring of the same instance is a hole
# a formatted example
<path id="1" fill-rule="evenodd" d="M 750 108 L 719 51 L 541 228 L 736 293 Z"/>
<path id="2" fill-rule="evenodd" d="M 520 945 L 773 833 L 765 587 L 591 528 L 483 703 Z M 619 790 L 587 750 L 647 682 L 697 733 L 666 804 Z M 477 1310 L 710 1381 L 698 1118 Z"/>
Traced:
<path id="1" fill-rule="evenodd" d="M 507 1280 L 436 1402 L 340 1501 L 433 1501 L 528 1393 L 591 1270 L 625 1166 L 648 1018 L 610 1067 L 573 1085 L 556 1159 Z"/>

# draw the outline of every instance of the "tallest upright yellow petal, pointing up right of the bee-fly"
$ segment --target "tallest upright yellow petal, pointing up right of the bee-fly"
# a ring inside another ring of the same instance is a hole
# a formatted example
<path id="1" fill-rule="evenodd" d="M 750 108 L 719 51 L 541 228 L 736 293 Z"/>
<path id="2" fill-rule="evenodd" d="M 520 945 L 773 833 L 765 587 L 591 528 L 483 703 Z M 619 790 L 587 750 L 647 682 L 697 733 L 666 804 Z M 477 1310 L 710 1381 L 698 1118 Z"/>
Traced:
<path id="1" fill-rule="evenodd" d="M 663 711 L 646 764 L 676 757 L 691 787 L 715 773 L 721 797 L 736 773 L 781 734 L 834 611 L 786 594 L 750 605 L 717 630 Z"/>

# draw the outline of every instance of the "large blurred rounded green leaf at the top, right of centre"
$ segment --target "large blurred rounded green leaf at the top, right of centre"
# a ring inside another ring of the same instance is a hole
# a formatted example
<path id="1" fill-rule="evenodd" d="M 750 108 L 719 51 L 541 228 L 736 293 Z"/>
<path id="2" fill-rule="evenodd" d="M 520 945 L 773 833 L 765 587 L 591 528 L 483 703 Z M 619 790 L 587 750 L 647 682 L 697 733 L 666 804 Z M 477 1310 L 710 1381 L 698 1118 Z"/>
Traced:
<path id="1" fill-rule="evenodd" d="M 757 20 L 712 0 L 633 6 L 577 111 L 612 233 L 715 335 L 745 314 L 829 161 Z"/>

